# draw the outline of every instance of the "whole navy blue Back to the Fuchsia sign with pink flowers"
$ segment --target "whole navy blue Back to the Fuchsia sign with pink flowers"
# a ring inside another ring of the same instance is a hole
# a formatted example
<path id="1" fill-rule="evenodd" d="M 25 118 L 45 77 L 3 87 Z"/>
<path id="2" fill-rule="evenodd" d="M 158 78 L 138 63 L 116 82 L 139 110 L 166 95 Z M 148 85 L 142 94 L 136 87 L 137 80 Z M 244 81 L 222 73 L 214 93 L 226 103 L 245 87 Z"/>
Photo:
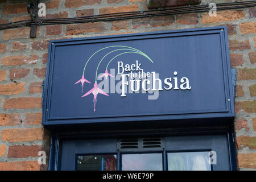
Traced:
<path id="1" fill-rule="evenodd" d="M 226 27 L 53 40 L 44 125 L 234 117 Z"/>

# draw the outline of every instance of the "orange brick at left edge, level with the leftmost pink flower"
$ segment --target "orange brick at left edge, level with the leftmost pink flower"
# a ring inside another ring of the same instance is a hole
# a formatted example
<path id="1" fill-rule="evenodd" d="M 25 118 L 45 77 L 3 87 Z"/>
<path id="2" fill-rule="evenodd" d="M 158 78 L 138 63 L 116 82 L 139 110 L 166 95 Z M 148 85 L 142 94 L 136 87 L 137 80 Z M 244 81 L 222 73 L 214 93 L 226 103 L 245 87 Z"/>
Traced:
<path id="1" fill-rule="evenodd" d="M 26 91 L 25 82 L 10 83 L 6 85 L 0 84 L 0 95 L 9 96 L 11 94 L 19 94 Z"/>

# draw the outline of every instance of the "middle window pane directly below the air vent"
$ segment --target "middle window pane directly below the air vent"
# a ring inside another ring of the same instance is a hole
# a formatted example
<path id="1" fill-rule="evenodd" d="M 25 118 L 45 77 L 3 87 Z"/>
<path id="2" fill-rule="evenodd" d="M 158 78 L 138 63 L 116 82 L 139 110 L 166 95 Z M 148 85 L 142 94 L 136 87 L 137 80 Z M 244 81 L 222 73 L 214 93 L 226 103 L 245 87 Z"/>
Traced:
<path id="1" fill-rule="evenodd" d="M 122 171 L 162 171 L 162 154 L 123 154 Z"/>

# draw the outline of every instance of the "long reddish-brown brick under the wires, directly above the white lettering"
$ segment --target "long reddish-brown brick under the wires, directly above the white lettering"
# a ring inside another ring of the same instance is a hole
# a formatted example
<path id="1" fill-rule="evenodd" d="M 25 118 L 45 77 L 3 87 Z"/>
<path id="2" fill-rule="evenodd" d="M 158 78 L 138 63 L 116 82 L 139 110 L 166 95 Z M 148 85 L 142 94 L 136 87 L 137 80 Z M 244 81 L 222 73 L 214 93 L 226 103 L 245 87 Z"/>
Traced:
<path id="1" fill-rule="evenodd" d="M 162 27 L 162 26 L 170 26 L 171 24 L 174 24 L 174 16 L 153 16 L 153 17 L 146 17 L 146 18 L 139 18 L 139 19 L 133 19 L 133 28 L 139 28 L 139 27 L 148 27 L 149 25 L 152 27 Z"/>

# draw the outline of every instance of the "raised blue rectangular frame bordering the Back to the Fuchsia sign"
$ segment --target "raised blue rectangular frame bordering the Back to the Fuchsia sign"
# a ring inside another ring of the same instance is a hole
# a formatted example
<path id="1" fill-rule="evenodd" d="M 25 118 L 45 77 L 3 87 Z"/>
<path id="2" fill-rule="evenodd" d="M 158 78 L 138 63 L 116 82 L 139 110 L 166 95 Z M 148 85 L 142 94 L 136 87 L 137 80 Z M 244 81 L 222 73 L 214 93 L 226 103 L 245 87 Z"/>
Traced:
<path id="1" fill-rule="evenodd" d="M 98 118 L 50 118 L 49 117 L 49 103 L 51 102 L 51 88 L 52 88 L 52 76 L 53 76 L 53 61 L 55 56 L 56 46 L 63 45 L 77 45 L 84 42 L 109 42 L 110 40 L 133 40 L 143 39 L 145 36 L 191 36 L 191 35 L 203 35 L 203 34 L 220 34 L 221 39 L 221 53 L 222 53 L 222 66 L 225 82 L 225 98 L 226 106 L 228 109 L 219 111 L 209 111 L 209 113 L 175 113 L 175 114 L 156 114 L 156 115 L 126 115 L 120 117 L 98 117 Z M 43 125 L 73 125 L 73 124 L 86 124 L 86 123 L 110 123 L 110 122 L 136 122 L 136 121 L 161 121 L 161 120 L 180 120 L 180 119 L 203 119 L 203 118 L 234 118 L 234 96 L 232 90 L 232 74 L 229 61 L 229 44 L 228 44 L 228 32 L 226 26 L 218 27 L 205 27 L 205 28 L 192 28 L 185 30 L 171 30 L 171 31 L 156 31 L 136 34 L 124 34 L 124 35 L 108 35 L 97 36 L 89 38 L 75 38 L 75 39 L 62 39 L 62 40 L 50 40 L 48 51 L 48 63 L 47 63 L 47 75 L 43 88 Z"/>

